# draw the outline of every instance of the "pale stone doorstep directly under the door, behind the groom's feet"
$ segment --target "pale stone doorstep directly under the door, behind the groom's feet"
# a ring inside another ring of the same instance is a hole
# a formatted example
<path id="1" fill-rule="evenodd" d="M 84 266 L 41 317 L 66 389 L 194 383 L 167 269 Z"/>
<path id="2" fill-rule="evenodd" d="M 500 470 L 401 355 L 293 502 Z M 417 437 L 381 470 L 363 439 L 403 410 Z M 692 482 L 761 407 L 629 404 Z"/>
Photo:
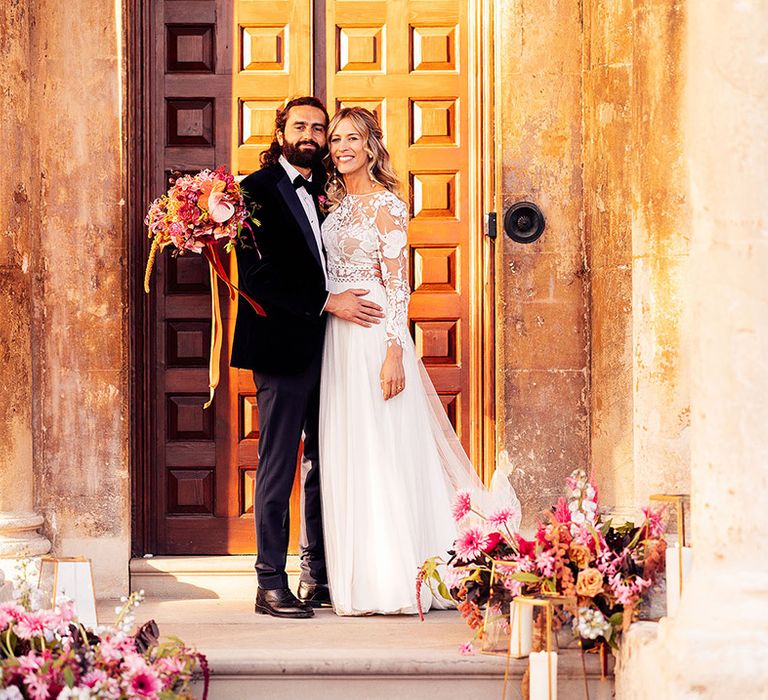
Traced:
<path id="1" fill-rule="evenodd" d="M 131 559 L 131 590 L 148 598 L 253 600 L 256 596 L 256 557 L 144 557 Z M 299 557 L 286 566 L 293 590 L 299 581 Z"/>

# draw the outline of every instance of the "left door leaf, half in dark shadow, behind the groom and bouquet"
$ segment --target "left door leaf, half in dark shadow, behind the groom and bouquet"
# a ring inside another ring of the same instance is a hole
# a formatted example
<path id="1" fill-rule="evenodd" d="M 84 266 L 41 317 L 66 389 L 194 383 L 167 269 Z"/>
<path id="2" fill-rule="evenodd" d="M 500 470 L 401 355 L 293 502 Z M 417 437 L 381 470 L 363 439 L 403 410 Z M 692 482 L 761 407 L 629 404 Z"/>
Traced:
<path id="1" fill-rule="evenodd" d="M 174 171 L 256 169 L 276 108 L 311 88 L 311 0 L 151 6 L 153 196 Z M 250 373 L 228 369 L 236 305 L 222 295 L 222 379 L 213 406 L 203 410 L 211 336 L 204 260 L 164 256 L 152 295 L 150 546 L 158 554 L 253 552 L 258 416 Z"/>

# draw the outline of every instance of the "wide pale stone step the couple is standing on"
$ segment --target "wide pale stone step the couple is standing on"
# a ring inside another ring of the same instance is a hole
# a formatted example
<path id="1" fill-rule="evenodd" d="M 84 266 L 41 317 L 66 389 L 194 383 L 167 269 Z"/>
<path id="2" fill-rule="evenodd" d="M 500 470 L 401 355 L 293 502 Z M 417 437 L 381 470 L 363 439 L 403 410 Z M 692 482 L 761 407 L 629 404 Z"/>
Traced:
<path id="1" fill-rule="evenodd" d="M 100 621 L 114 617 L 114 603 Z M 462 656 L 472 636 L 456 611 L 413 616 L 338 617 L 319 610 L 310 620 L 255 615 L 250 600 L 147 599 L 137 612 L 154 618 L 163 636 L 178 636 L 206 654 L 212 700 L 423 700 L 428 697 L 522 698 L 527 660 L 513 659 L 504 693 L 505 657 Z M 608 700 L 612 679 L 601 681 L 598 659 L 586 657 L 589 697 Z M 581 656 L 561 650 L 560 700 L 585 698 Z M 201 688 L 198 687 L 198 697 Z"/>

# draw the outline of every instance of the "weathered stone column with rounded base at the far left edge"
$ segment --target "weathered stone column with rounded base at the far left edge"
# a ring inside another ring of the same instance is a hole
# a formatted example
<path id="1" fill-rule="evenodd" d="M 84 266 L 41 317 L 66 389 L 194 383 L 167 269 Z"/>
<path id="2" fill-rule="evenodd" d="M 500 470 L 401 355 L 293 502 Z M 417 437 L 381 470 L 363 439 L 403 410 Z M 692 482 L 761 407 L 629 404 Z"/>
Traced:
<path id="1" fill-rule="evenodd" d="M 50 549 L 38 532 L 32 461 L 32 307 L 35 139 L 26 3 L 3 3 L 0 25 L 0 558 Z"/>

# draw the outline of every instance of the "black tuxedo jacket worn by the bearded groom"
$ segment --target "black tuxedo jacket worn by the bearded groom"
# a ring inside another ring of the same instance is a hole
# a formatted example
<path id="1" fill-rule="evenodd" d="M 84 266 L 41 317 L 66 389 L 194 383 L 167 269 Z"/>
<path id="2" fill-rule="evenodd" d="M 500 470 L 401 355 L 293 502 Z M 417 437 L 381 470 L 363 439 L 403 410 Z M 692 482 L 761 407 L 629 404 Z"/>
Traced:
<path id="1" fill-rule="evenodd" d="M 316 185 L 323 178 L 313 173 Z M 239 286 L 267 316 L 238 301 L 231 365 L 264 374 L 298 374 L 322 352 L 322 309 L 328 297 L 323 252 L 279 163 L 257 170 L 240 185 L 260 225 L 251 221 L 256 247 L 237 247 Z"/>

